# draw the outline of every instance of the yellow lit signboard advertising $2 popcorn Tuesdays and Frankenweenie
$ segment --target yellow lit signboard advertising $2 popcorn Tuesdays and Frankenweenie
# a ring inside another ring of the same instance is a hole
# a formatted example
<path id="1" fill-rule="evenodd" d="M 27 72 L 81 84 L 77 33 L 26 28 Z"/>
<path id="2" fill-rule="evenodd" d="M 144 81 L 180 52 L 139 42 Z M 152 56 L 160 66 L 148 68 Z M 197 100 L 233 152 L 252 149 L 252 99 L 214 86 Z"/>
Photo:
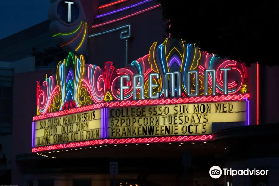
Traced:
<path id="1" fill-rule="evenodd" d="M 212 123 L 245 121 L 245 102 L 112 108 L 108 137 L 211 134 Z"/>

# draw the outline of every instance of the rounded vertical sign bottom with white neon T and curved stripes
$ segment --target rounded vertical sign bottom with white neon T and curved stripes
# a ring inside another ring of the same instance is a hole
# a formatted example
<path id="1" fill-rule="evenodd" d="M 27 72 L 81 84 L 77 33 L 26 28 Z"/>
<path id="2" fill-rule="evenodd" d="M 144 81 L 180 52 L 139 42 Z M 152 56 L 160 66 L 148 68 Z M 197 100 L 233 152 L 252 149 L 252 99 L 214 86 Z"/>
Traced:
<path id="1" fill-rule="evenodd" d="M 53 2 L 48 17 L 52 37 L 63 50 L 75 51 L 78 54 L 86 51 L 87 18 L 79 0 Z"/>

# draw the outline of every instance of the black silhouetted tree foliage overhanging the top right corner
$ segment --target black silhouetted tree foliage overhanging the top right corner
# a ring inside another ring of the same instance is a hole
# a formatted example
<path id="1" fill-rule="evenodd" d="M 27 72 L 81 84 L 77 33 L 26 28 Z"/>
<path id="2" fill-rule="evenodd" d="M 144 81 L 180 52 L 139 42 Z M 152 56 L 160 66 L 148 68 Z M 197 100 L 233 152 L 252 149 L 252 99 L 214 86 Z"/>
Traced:
<path id="1" fill-rule="evenodd" d="M 171 38 L 247 66 L 279 64 L 279 1 L 157 1 Z"/>

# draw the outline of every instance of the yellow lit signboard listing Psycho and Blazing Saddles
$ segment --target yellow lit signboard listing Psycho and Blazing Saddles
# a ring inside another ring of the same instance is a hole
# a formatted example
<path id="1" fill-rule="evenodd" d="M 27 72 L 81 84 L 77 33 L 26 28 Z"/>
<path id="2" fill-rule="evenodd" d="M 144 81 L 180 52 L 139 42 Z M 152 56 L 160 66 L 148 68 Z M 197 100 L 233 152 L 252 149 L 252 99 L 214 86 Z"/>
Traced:
<path id="1" fill-rule="evenodd" d="M 35 147 L 99 139 L 101 110 L 36 121 L 34 133 Z"/>

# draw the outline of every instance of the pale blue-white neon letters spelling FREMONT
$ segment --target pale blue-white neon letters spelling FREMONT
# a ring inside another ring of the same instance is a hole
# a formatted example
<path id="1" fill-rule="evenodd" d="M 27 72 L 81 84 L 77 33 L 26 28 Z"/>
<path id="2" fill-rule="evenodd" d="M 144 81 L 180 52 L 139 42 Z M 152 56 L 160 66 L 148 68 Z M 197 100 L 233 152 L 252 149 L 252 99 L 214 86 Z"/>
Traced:
<path id="1" fill-rule="evenodd" d="M 224 72 L 224 95 L 228 94 L 228 70 L 231 70 L 232 68 L 221 68 L 220 71 Z M 194 81 L 194 93 L 191 92 L 191 74 L 194 74 L 195 81 Z M 211 79 L 212 79 L 212 95 L 216 95 L 216 70 L 215 69 L 206 69 L 204 70 L 204 95 L 208 95 L 208 73 L 212 73 Z M 187 82 L 187 91 L 186 94 L 188 97 L 191 96 L 198 96 L 199 95 L 199 72 L 197 70 L 191 70 L 187 73 L 187 76 L 184 77 Z M 177 77 L 177 86 L 175 89 L 175 75 Z M 138 79 L 139 78 L 139 79 Z M 149 98 L 150 99 L 159 99 L 160 95 L 159 92 L 155 92 L 155 95 L 153 95 L 153 88 L 158 87 L 158 84 L 153 84 L 151 80 L 155 78 L 156 80 L 160 79 L 160 74 L 159 73 L 150 73 L 149 74 Z M 131 81 L 129 75 L 122 75 L 120 76 L 120 100 L 124 100 L 124 90 L 125 89 L 130 89 L 130 86 L 124 86 L 124 79 L 126 81 Z M 176 71 L 176 72 L 167 72 L 165 73 L 164 77 L 164 82 L 165 84 L 164 88 L 165 90 L 165 98 L 169 97 L 169 90 L 170 90 L 170 95 L 171 97 L 181 97 L 181 72 Z M 169 88 L 170 84 L 170 88 Z M 137 99 L 137 89 L 140 91 L 140 99 L 144 100 L 144 75 L 143 74 L 136 74 L 133 76 L 133 99 Z M 176 94 L 176 96 L 175 96 Z"/>

